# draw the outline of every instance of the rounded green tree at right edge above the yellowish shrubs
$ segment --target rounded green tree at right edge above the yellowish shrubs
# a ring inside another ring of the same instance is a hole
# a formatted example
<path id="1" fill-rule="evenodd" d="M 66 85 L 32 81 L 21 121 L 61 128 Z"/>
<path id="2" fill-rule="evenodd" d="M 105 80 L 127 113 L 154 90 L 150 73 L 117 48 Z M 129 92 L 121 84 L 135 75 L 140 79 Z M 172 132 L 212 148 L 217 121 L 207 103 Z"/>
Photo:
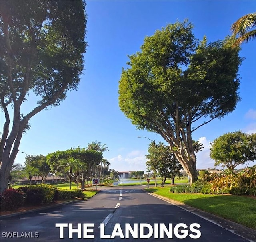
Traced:
<path id="1" fill-rule="evenodd" d="M 223 134 L 213 141 L 210 151 L 215 165 L 224 165 L 234 172 L 236 166 L 256 160 L 256 134 L 242 131 Z"/>

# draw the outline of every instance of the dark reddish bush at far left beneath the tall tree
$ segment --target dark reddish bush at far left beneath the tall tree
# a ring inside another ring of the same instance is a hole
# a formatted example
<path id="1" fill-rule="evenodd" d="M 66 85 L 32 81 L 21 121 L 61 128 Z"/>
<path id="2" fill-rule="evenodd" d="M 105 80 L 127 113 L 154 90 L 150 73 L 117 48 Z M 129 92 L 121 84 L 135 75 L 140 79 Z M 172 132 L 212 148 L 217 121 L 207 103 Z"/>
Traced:
<path id="1" fill-rule="evenodd" d="M 22 207 L 26 195 L 17 189 L 6 189 L 1 194 L 1 210 L 14 210 Z"/>

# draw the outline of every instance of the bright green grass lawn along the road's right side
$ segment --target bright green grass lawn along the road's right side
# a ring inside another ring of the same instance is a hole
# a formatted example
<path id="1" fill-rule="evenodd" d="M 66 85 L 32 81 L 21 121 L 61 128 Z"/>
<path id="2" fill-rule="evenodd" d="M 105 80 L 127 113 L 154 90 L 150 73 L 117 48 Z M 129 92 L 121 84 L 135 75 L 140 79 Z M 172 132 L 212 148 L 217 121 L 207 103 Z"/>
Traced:
<path id="1" fill-rule="evenodd" d="M 191 207 L 256 229 L 256 199 L 246 196 L 212 195 L 200 193 L 170 193 L 170 187 L 145 189 Z"/>

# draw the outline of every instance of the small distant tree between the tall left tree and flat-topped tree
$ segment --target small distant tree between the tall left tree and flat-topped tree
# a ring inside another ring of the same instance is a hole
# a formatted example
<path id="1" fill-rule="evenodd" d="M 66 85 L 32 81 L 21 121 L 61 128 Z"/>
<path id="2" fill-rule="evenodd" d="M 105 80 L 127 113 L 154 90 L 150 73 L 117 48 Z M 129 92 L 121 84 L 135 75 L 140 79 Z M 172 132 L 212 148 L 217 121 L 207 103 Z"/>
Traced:
<path id="1" fill-rule="evenodd" d="M 50 165 L 46 162 L 46 156 L 44 155 L 27 155 L 25 157 L 25 166 L 30 165 L 37 168 L 37 174 L 42 177 L 42 183 L 44 184 L 48 174 L 50 173 Z"/>

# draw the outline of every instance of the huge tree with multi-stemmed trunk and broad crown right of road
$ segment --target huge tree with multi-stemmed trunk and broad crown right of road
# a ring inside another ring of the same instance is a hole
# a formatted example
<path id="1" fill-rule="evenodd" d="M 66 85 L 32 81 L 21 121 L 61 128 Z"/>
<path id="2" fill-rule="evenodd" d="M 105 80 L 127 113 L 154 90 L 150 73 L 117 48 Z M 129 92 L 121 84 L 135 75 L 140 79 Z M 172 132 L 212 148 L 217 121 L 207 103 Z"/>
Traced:
<path id="1" fill-rule="evenodd" d="M 119 106 L 138 129 L 160 134 L 190 182 L 197 180 L 192 132 L 236 108 L 239 46 L 234 37 L 201 42 L 188 21 L 168 24 L 130 55 L 119 81 Z"/>

